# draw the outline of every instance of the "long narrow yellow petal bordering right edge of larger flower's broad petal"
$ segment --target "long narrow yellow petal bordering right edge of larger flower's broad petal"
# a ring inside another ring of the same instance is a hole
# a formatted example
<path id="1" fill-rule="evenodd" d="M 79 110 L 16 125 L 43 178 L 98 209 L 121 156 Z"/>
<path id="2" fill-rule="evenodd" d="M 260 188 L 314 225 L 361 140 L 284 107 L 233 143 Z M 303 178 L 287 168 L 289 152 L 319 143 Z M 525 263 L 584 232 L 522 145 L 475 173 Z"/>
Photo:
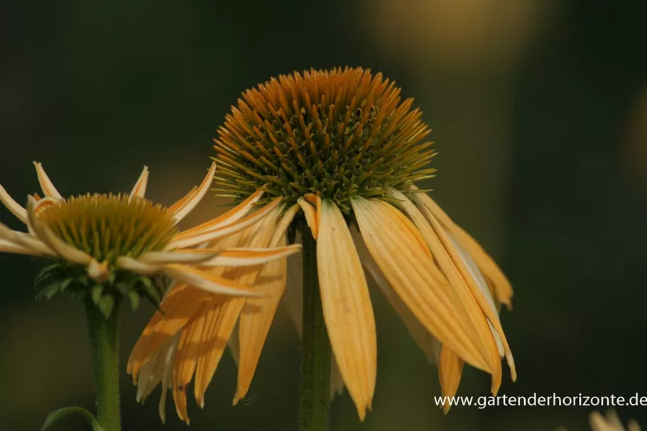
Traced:
<path id="1" fill-rule="evenodd" d="M 490 330 L 490 325 L 486 314 L 489 314 L 488 311 L 491 311 L 486 305 L 486 310 L 482 309 L 482 293 L 474 285 L 474 280 L 467 269 L 464 268 L 464 264 L 461 261 L 460 257 L 457 256 L 457 253 L 451 246 L 444 244 L 445 241 L 442 241 L 439 237 L 442 234 L 445 234 L 445 231 L 441 229 L 440 233 L 437 233 L 434 229 L 440 227 L 440 224 L 436 226 L 433 222 L 432 224 L 425 218 L 423 213 L 420 212 L 418 207 L 408 200 L 408 198 L 403 195 L 398 190 L 391 189 L 389 190 L 389 196 L 398 200 L 400 206 L 403 208 L 404 212 L 413 220 L 413 223 L 420 234 L 422 234 L 425 241 L 431 249 L 431 253 L 435 260 L 437 261 L 438 266 L 442 273 L 445 274 L 447 281 L 450 282 L 452 288 L 454 288 L 460 302 L 469 316 L 469 319 L 472 321 L 472 325 L 476 329 L 476 333 L 479 336 L 482 349 L 484 349 L 484 356 L 488 361 L 489 368 L 492 370 L 492 393 L 499 391 L 501 386 L 501 359 L 499 356 L 499 348 L 496 345 L 496 340 L 494 334 Z M 484 312 L 486 314 L 484 314 Z M 496 317 L 498 319 L 498 316 Z"/>

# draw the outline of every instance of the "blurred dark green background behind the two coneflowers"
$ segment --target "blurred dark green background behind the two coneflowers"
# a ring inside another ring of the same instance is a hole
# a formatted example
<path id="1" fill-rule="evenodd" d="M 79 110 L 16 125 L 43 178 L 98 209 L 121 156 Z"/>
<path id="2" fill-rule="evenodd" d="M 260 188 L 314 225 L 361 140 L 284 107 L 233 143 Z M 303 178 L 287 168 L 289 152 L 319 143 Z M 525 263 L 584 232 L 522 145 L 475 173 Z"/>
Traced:
<path id="1" fill-rule="evenodd" d="M 197 184 L 239 93 L 310 67 L 361 65 L 413 96 L 433 127 L 433 196 L 501 263 L 519 378 L 509 395 L 647 395 L 647 8 L 643 1 L 50 1 L 0 6 L 0 182 L 23 200 L 43 162 L 63 194 L 149 197 Z M 205 200 L 191 221 L 213 214 Z M 218 209 L 219 210 L 219 209 Z M 0 220 L 20 227 L 5 209 Z M 27 258 L 0 256 L 0 429 L 92 408 L 83 311 L 34 300 Z M 379 369 L 363 424 L 347 395 L 332 430 L 585 430 L 592 408 L 455 407 L 436 369 L 373 295 Z M 124 360 L 151 315 L 124 310 Z M 298 342 L 279 312 L 245 402 L 226 356 L 187 428 L 124 371 L 124 430 L 296 431 Z M 486 395 L 469 369 L 461 395 Z M 619 408 L 647 427 L 645 408 Z M 85 430 L 70 418 L 60 430 Z"/>

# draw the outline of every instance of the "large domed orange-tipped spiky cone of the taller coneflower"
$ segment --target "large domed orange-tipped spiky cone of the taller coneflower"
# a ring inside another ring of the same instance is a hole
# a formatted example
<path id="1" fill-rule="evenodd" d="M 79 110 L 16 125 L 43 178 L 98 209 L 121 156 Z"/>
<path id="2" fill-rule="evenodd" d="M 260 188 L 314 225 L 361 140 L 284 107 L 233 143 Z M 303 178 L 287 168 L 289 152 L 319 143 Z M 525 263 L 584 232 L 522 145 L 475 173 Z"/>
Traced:
<path id="1" fill-rule="evenodd" d="M 382 197 L 430 178 L 430 132 L 400 89 L 361 68 L 281 75 L 248 89 L 215 141 L 219 195 L 259 188 L 288 203 L 315 193 L 349 212 L 349 197 Z"/>

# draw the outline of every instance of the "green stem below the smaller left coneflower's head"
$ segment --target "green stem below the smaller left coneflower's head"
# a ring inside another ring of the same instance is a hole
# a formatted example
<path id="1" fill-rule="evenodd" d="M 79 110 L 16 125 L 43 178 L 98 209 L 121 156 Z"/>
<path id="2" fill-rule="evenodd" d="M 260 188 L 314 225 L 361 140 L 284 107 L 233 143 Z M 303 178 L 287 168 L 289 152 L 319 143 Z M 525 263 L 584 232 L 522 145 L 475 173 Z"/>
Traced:
<path id="1" fill-rule="evenodd" d="M 108 318 L 91 301 L 85 308 L 94 363 L 97 420 L 103 431 L 119 431 L 119 304 L 114 305 Z"/>

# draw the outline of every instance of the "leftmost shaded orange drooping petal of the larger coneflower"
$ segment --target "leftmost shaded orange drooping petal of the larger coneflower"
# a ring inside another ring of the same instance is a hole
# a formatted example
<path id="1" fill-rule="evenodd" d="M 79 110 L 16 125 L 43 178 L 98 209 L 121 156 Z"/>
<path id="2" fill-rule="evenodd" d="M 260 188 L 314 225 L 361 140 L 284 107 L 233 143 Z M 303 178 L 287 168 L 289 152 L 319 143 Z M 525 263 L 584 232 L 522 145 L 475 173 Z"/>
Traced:
<path id="1" fill-rule="evenodd" d="M 153 355 L 177 334 L 185 324 L 200 310 L 205 302 L 209 301 L 212 294 L 185 284 L 177 284 L 165 296 L 161 309 L 164 314 L 157 311 L 148 322 L 131 351 L 126 371 L 132 374 L 133 381 L 141 367 Z"/>

